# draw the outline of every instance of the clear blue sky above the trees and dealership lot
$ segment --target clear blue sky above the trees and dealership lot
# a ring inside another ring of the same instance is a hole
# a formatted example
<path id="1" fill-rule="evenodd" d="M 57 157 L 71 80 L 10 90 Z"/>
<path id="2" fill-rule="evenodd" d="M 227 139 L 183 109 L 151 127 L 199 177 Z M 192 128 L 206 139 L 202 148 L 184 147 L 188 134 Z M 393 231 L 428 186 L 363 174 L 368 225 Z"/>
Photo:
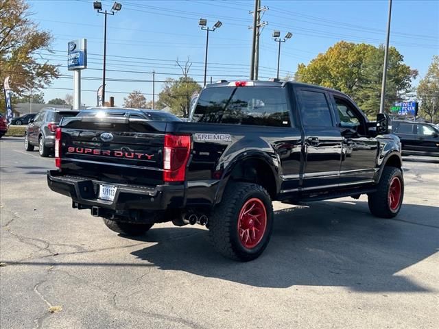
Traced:
<path id="1" fill-rule="evenodd" d="M 41 57 L 51 64 L 67 64 L 67 42 L 75 38 L 88 39 L 88 68 L 83 77 L 101 78 L 104 15 L 93 11 L 93 1 L 29 1 L 33 19 L 54 35 L 54 53 L 41 51 Z M 178 77 L 181 72 L 176 58 L 193 65 L 191 75 L 202 82 L 206 32 L 198 27 L 198 19 L 208 19 L 213 25 L 218 19 L 223 25 L 209 35 L 208 80 L 226 77 L 227 80 L 246 79 L 249 74 L 254 1 L 232 0 L 119 0 L 123 7 L 115 16 L 108 16 L 107 40 L 107 99 L 115 96 L 121 106 L 123 97 L 132 90 L 141 90 L 152 99 L 151 71 L 156 80 Z M 318 53 L 326 51 L 339 40 L 385 42 L 388 1 L 270 1 L 262 0 L 269 8 L 263 16 L 267 21 L 261 34 L 259 76 L 275 77 L 277 44 L 272 32 L 278 29 L 293 38 L 283 43 L 281 76 L 294 74 L 298 63 L 308 63 Z M 102 1 L 110 9 L 113 1 Z M 439 1 L 394 0 L 390 44 L 403 54 L 405 63 L 418 69 L 420 77 L 427 72 L 432 56 L 439 54 Z M 117 57 L 123 56 L 123 57 Z M 119 71 L 132 71 L 117 72 Z M 44 91 L 45 100 L 72 93 L 71 72 L 61 67 L 66 77 L 56 80 Z M 82 103 L 94 106 L 101 82 L 82 80 Z M 145 80 L 141 82 L 111 81 Z M 416 83 L 415 83 L 416 84 Z M 156 93 L 162 84 L 156 83 Z M 67 88 L 70 90 L 57 89 Z M 119 92 L 119 93 L 111 93 Z M 126 93 L 126 94 L 123 94 Z M 157 99 L 157 97 L 156 97 Z"/>

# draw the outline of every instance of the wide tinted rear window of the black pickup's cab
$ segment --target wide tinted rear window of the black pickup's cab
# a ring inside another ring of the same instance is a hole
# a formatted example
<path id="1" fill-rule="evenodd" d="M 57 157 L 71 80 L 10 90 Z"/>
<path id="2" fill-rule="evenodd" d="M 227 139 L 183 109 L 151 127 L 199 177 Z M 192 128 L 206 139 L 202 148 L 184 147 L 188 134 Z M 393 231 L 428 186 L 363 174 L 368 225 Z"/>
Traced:
<path id="1" fill-rule="evenodd" d="M 206 88 L 198 99 L 193 122 L 289 127 L 285 89 L 279 87 Z"/>

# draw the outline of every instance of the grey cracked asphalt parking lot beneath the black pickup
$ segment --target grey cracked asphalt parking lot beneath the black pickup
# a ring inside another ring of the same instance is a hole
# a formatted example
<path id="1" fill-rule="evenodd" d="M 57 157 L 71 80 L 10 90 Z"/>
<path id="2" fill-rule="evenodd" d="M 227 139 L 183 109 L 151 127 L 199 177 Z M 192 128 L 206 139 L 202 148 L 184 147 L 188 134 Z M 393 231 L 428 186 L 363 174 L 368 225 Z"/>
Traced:
<path id="1" fill-rule="evenodd" d="M 250 263 L 201 226 L 118 236 L 47 188 L 54 159 L 22 138 L 1 138 L 0 160 L 1 328 L 438 328 L 438 158 L 405 158 L 396 219 L 363 196 L 276 203 Z"/>

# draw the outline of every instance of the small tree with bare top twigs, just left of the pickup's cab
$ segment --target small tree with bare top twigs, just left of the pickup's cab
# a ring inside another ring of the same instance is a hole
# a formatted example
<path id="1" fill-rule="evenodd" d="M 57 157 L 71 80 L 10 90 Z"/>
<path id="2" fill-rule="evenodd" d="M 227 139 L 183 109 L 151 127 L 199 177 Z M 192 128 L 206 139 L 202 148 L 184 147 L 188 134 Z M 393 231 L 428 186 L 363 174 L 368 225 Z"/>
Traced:
<path id="1" fill-rule="evenodd" d="M 191 96 L 195 91 L 200 92 L 201 86 L 189 77 L 189 69 L 192 65 L 189 58 L 184 65 L 180 64 L 177 59 L 177 64 L 182 70 L 182 77 L 179 77 L 178 80 L 170 78 L 166 80 L 163 90 L 158 94 L 156 108 L 169 106 L 171 112 L 187 118 L 189 117 Z"/>

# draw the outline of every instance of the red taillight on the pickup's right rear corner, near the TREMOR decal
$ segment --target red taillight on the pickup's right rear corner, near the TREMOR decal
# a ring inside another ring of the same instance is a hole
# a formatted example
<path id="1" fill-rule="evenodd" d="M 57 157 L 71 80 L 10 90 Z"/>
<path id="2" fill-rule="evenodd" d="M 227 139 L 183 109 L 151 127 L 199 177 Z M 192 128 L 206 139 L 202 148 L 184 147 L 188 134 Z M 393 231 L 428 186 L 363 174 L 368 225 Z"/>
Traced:
<path id="1" fill-rule="evenodd" d="M 186 176 L 186 165 L 191 154 L 191 136 L 165 134 L 163 147 L 163 180 L 182 182 Z"/>

